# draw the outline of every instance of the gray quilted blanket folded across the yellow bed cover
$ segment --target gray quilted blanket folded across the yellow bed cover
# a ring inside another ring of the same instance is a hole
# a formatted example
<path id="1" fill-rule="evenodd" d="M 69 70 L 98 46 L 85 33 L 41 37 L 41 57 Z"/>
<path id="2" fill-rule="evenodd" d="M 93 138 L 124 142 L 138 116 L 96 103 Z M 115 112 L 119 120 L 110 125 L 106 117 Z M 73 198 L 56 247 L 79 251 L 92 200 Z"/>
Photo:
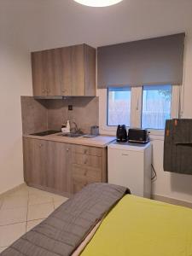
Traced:
<path id="1" fill-rule="evenodd" d="M 124 187 L 92 183 L 0 254 L 71 255 L 95 224 L 128 193 L 130 190 Z"/>

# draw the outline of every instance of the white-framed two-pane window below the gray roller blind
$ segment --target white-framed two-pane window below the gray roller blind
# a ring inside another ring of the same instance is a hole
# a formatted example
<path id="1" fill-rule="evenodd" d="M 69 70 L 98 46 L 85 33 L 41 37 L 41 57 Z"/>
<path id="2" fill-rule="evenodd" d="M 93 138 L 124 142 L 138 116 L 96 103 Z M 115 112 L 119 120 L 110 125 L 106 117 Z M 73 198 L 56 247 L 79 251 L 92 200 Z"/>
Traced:
<path id="1" fill-rule="evenodd" d="M 163 135 L 166 119 L 178 118 L 180 93 L 181 86 L 172 84 L 98 90 L 100 130 L 114 135 L 117 125 L 126 125 Z"/>

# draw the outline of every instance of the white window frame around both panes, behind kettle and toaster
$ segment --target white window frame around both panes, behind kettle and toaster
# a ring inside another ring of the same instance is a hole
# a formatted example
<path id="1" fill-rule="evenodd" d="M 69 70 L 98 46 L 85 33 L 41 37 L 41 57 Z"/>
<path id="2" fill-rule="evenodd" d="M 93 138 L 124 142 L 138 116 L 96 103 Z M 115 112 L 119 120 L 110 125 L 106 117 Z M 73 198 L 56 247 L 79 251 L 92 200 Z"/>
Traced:
<path id="1" fill-rule="evenodd" d="M 130 86 L 131 87 L 131 127 L 141 128 L 142 122 L 142 106 L 143 106 L 143 85 Z M 178 118 L 180 107 L 181 86 L 172 85 L 172 104 L 171 104 L 171 118 Z M 101 134 L 108 134 L 114 136 L 117 126 L 108 126 L 108 89 L 98 89 L 97 96 L 99 96 L 99 126 Z M 127 127 L 129 128 L 129 127 Z M 148 129 L 150 135 L 153 137 L 163 137 L 164 130 Z"/>

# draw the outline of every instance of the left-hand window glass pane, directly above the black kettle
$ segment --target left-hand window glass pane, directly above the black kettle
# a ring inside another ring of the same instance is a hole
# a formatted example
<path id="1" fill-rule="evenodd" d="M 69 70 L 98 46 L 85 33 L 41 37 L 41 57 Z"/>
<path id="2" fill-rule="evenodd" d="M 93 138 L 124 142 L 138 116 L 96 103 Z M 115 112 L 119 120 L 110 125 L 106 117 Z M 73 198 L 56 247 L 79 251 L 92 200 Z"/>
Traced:
<path id="1" fill-rule="evenodd" d="M 131 89 L 108 88 L 108 125 L 130 125 Z"/>

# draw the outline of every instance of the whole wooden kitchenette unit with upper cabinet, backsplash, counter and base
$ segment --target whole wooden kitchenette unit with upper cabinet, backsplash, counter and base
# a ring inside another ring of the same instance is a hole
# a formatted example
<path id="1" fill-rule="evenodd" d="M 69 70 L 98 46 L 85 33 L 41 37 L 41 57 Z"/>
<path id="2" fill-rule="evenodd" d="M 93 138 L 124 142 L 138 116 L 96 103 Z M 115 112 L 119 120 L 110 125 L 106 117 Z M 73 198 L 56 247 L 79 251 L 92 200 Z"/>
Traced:
<path id="1" fill-rule="evenodd" d="M 33 52 L 32 82 L 34 97 L 21 96 L 25 182 L 67 197 L 107 182 L 115 137 L 99 136 L 96 50 L 82 44 Z"/>

